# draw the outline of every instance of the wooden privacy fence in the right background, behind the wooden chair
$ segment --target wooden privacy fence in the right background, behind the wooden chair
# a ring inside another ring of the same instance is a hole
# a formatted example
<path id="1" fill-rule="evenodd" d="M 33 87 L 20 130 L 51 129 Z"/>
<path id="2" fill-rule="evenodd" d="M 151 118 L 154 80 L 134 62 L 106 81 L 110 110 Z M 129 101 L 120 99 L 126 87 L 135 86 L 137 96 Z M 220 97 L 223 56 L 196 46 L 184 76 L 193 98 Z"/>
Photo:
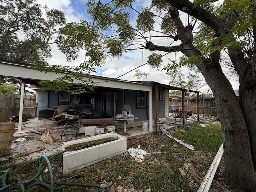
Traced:
<path id="1" fill-rule="evenodd" d="M 190 110 L 193 114 L 197 114 L 197 100 L 185 100 L 184 108 L 186 111 Z M 203 102 L 199 100 L 199 114 L 203 114 Z M 182 109 L 182 100 L 169 100 L 169 109 Z M 214 99 L 204 99 L 204 114 L 217 116 L 216 105 Z"/>

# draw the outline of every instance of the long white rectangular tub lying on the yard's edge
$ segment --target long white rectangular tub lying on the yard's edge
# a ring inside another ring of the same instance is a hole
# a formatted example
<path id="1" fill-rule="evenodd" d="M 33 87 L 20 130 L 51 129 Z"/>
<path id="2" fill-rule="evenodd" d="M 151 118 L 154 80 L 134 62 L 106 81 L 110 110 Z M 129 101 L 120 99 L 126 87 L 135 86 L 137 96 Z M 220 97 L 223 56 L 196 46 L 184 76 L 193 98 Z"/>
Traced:
<path id="1" fill-rule="evenodd" d="M 92 165 L 100 160 L 104 160 L 127 151 L 127 139 L 117 133 L 110 132 L 92 137 L 72 140 L 61 144 L 61 149 L 78 143 L 90 142 L 104 138 L 116 138 L 117 140 L 80 149 L 77 151 L 67 151 L 62 154 L 62 172 L 66 174 L 73 170 Z"/>

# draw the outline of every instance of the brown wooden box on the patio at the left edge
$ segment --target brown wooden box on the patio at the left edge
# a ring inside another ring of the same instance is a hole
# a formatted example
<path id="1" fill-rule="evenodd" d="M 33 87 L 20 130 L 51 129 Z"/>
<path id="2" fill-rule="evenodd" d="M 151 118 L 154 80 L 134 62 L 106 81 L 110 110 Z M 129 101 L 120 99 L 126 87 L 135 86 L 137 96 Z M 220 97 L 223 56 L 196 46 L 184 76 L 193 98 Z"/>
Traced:
<path id="1" fill-rule="evenodd" d="M 12 139 L 14 133 L 14 122 L 0 123 L 0 151 L 6 154 L 10 153 L 12 146 Z"/>

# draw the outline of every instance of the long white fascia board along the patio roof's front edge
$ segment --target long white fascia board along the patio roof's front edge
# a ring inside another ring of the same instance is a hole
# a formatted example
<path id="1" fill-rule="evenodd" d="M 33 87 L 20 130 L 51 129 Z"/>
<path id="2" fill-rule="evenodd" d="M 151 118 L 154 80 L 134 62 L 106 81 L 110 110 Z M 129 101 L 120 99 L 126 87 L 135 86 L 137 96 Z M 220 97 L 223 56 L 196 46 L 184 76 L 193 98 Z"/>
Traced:
<path id="1" fill-rule="evenodd" d="M 61 78 L 68 73 L 55 73 L 55 72 L 40 72 L 38 70 L 32 70 L 22 64 L 6 64 L 0 63 L 0 74 L 2 76 L 10 76 L 15 78 L 32 79 L 32 80 L 56 80 Z M 150 91 L 152 85 L 142 84 L 138 82 L 130 82 L 125 80 L 111 80 L 110 78 L 104 78 L 100 76 L 92 76 L 93 82 L 96 86 L 117 88 L 117 89 L 128 89 L 128 90 L 142 90 Z M 74 80 L 72 83 L 79 84 L 78 80 Z"/>

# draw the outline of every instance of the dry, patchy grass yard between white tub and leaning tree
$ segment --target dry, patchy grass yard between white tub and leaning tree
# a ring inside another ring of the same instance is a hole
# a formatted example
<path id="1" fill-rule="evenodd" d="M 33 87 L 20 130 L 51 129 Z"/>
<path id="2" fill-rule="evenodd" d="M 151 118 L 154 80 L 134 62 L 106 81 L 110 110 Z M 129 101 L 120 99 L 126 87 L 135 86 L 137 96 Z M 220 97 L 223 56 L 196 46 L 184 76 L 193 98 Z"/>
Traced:
<path id="1" fill-rule="evenodd" d="M 112 182 L 116 191 L 127 192 L 144 192 L 148 188 L 152 192 L 196 192 L 199 184 L 192 178 L 191 172 L 194 170 L 200 181 L 204 179 L 220 147 L 221 130 L 219 125 L 199 128 L 198 123 L 193 123 L 190 126 L 192 127 L 191 131 L 184 131 L 181 127 L 176 127 L 168 130 L 168 132 L 172 136 L 192 144 L 196 149 L 194 151 L 163 134 L 151 134 L 131 139 L 127 141 L 128 148 L 137 148 L 140 145 L 141 149 L 151 153 L 144 156 L 143 162 L 135 162 L 129 153 L 121 154 L 72 172 L 72 174 L 84 174 L 84 177 L 77 179 L 75 182 L 97 184 Z M 205 135 L 205 138 L 201 138 L 201 134 Z M 195 136 L 198 136 L 198 138 L 195 138 Z M 154 154 L 158 151 L 161 153 Z M 61 156 L 54 158 L 51 165 L 55 176 L 61 174 Z M 10 171 L 10 178 L 31 179 L 37 168 L 38 162 L 36 161 L 18 164 Z M 186 176 L 182 176 L 178 168 L 182 168 Z M 223 171 L 222 162 L 214 177 L 212 192 L 232 191 L 222 180 Z M 44 180 L 49 180 L 48 173 L 44 174 Z M 63 179 L 57 177 L 55 180 L 63 181 Z M 36 186 L 28 191 L 50 190 Z M 67 186 L 60 191 L 100 192 L 102 190 L 99 188 Z"/>

